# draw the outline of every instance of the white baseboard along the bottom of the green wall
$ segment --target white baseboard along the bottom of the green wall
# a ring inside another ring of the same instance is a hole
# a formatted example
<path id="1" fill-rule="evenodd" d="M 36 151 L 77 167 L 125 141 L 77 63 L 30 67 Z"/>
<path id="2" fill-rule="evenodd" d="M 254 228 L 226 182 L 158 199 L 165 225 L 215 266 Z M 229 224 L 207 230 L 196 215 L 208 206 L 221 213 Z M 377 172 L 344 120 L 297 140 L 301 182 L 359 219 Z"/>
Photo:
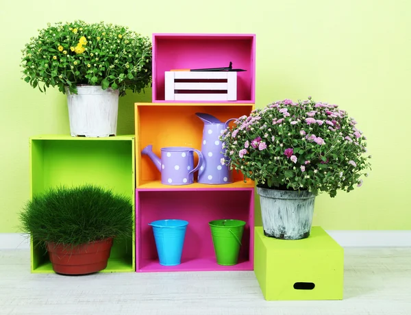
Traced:
<path id="1" fill-rule="evenodd" d="M 342 247 L 411 247 L 411 230 L 404 231 L 331 231 Z M 29 249 L 25 234 L 0 233 L 0 249 Z"/>

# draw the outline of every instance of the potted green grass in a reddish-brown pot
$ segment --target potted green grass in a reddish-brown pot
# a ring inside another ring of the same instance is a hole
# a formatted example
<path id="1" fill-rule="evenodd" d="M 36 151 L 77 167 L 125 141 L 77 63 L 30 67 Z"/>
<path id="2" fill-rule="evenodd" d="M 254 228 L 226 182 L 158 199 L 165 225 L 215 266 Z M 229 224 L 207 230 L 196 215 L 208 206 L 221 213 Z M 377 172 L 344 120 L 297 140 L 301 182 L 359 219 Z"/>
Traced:
<path id="1" fill-rule="evenodd" d="M 132 237 L 132 202 L 95 185 L 50 188 L 27 201 L 23 232 L 49 253 L 55 273 L 84 275 L 107 267 L 115 239 Z"/>

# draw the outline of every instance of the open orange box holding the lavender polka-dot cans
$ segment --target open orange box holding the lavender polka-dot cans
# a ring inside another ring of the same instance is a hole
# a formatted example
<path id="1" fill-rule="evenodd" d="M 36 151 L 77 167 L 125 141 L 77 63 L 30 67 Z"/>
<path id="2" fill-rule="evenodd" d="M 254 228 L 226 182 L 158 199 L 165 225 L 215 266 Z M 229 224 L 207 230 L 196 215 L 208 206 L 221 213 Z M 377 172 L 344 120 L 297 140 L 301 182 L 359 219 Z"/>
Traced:
<path id="1" fill-rule="evenodd" d="M 153 152 L 160 156 L 162 147 L 192 147 L 201 150 L 203 137 L 203 122 L 195 115 L 196 112 L 211 114 L 220 121 L 249 115 L 254 109 L 253 104 L 233 103 L 135 103 L 136 129 L 136 188 L 179 188 L 181 186 L 165 186 L 160 184 L 160 172 L 149 157 L 142 158 L 141 150 L 149 144 Z M 195 155 L 195 164 L 198 158 Z M 234 182 L 223 185 L 224 188 L 253 187 L 254 182 L 244 182 L 242 173 L 234 171 Z M 197 183 L 184 188 L 212 188 L 222 185 L 206 185 Z"/>

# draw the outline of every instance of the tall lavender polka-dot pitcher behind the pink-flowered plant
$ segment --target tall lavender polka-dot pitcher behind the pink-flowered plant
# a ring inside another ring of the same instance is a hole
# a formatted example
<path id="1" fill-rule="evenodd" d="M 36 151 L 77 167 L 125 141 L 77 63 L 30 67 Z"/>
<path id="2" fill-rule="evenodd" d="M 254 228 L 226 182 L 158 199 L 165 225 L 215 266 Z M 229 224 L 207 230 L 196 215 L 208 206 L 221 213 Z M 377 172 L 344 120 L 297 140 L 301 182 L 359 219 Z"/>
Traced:
<path id="1" fill-rule="evenodd" d="M 204 123 L 203 139 L 201 140 L 201 153 L 203 153 L 203 163 L 199 170 L 199 183 L 201 184 L 229 184 L 233 182 L 233 173 L 229 166 L 221 165 L 221 159 L 226 158 L 222 152 L 223 143 L 219 136 L 227 128 L 230 121 L 237 118 L 230 118 L 225 123 L 216 117 L 205 114 L 195 113 Z"/>

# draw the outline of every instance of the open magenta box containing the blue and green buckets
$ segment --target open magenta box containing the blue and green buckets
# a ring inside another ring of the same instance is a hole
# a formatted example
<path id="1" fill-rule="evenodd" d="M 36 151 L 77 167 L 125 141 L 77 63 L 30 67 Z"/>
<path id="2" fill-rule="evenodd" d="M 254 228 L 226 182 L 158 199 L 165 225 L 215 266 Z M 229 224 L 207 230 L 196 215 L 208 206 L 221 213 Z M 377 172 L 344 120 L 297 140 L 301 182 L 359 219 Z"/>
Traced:
<path id="1" fill-rule="evenodd" d="M 153 220 L 182 219 L 188 221 L 178 266 L 162 266 L 158 262 Z M 211 220 L 238 219 L 246 222 L 238 264 L 216 263 L 210 227 Z M 254 236 L 253 188 L 182 188 L 136 190 L 136 271 L 208 271 L 253 270 Z"/>

